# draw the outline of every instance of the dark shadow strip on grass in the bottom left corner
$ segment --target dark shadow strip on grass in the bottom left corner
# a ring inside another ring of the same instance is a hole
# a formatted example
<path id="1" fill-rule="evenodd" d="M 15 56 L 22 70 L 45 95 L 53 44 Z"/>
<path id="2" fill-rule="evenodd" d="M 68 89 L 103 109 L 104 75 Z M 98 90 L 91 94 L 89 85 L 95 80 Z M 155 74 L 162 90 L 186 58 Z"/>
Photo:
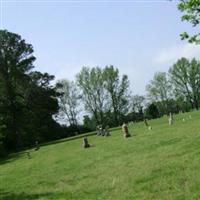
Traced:
<path id="1" fill-rule="evenodd" d="M 26 194 L 26 193 L 12 193 L 12 192 L 0 192 L 1 200 L 37 200 L 39 198 L 49 199 L 54 193 L 38 193 L 38 194 Z"/>

